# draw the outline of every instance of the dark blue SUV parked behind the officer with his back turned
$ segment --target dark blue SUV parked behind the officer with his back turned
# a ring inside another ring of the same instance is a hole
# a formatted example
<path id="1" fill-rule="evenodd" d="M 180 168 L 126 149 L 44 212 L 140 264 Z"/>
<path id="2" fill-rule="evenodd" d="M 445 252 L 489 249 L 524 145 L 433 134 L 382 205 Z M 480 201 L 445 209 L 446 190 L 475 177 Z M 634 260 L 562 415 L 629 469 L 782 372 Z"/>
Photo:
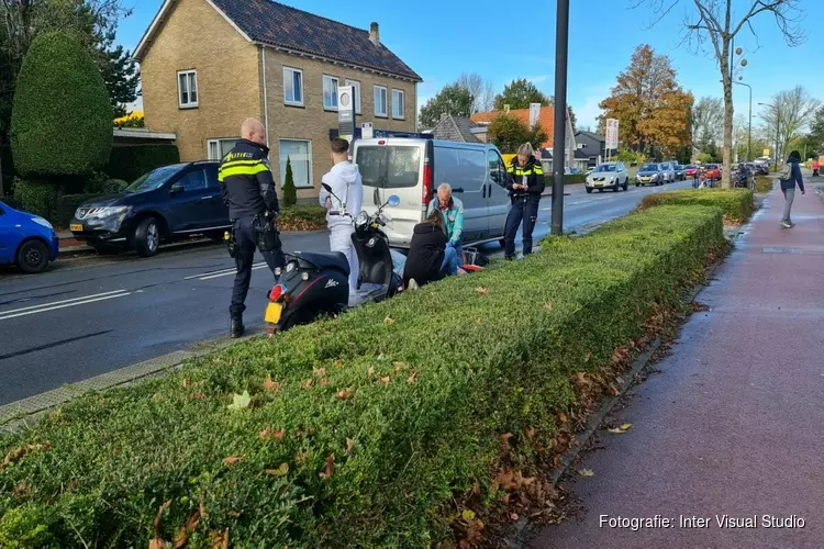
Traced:
<path id="1" fill-rule="evenodd" d="M 230 227 L 218 161 L 176 164 L 142 176 L 125 191 L 77 209 L 69 228 L 101 254 L 157 254 L 162 242 L 196 234 L 220 239 Z"/>

